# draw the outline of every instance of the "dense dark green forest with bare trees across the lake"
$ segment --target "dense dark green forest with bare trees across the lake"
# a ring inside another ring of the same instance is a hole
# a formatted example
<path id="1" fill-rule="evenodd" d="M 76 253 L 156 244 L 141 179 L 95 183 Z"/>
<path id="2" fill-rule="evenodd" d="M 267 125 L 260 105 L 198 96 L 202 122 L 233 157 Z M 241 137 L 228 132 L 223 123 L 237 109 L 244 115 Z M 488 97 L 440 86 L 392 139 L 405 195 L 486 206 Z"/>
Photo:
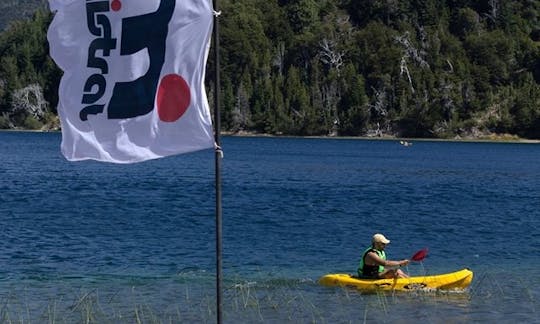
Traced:
<path id="1" fill-rule="evenodd" d="M 540 0 L 219 4 L 225 130 L 540 138 Z M 50 19 L 0 36 L 0 128 L 54 120 Z"/>

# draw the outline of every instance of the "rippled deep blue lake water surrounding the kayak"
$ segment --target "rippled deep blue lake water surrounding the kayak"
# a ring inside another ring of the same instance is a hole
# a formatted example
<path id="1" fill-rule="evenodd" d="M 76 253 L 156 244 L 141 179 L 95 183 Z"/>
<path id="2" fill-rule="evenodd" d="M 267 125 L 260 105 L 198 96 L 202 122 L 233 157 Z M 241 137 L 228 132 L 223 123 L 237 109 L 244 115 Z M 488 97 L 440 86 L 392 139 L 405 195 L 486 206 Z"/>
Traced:
<path id="1" fill-rule="evenodd" d="M 0 320 L 215 321 L 214 155 L 70 163 L 60 134 L 0 133 Z M 540 145 L 223 139 L 225 322 L 538 322 Z M 365 295 L 375 232 L 464 293 Z"/>

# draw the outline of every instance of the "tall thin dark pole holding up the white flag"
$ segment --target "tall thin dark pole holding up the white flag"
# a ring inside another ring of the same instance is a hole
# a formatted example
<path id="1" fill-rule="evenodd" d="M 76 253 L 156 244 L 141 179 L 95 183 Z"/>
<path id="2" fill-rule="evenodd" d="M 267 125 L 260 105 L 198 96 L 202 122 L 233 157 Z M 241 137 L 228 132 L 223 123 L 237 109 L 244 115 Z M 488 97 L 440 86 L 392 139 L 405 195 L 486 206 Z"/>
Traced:
<path id="1" fill-rule="evenodd" d="M 222 205 L 221 205 L 221 159 L 223 152 L 221 151 L 221 114 L 220 114 L 220 63 L 219 63 L 219 14 L 218 0 L 212 0 L 214 6 L 214 140 L 217 148 L 215 153 L 216 167 L 216 316 L 217 323 L 223 321 L 222 312 Z"/>

